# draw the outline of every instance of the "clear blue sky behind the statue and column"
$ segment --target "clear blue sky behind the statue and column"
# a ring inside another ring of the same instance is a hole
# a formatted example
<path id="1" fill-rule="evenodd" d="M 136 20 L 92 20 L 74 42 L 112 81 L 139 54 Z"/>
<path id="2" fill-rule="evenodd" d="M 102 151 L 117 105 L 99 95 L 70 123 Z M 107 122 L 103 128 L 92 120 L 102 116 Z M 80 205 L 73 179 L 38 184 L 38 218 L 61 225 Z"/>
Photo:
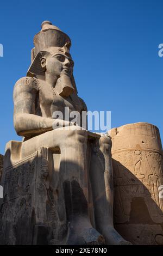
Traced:
<path id="1" fill-rule="evenodd" d="M 162 127 L 162 0 L 1 1 L 0 153 L 21 140 L 12 91 L 30 64 L 33 37 L 50 20 L 72 40 L 74 77 L 89 110 L 111 111 L 111 125 L 145 121 Z"/>

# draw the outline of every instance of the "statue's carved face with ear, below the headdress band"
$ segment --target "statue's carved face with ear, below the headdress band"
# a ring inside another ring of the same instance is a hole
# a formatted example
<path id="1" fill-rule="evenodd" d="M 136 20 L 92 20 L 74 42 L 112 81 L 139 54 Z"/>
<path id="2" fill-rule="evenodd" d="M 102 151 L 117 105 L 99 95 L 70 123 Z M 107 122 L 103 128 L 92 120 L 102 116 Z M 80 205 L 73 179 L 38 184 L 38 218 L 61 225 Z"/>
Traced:
<path id="1" fill-rule="evenodd" d="M 73 72 L 73 60 L 71 56 L 66 56 L 62 53 L 50 53 L 48 56 L 41 58 L 42 68 L 46 68 L 46 72 L 52 73 L 57 77 L 61 74 L 72 76 Z"/>

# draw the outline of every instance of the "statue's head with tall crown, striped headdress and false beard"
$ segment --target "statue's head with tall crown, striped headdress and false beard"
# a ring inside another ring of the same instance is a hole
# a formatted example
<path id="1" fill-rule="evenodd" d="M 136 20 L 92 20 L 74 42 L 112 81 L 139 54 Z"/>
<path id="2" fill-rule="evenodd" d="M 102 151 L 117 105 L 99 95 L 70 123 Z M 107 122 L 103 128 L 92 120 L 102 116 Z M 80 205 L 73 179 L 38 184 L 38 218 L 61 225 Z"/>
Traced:
<path id="1" fill-rule="evenodd" d="M 27 76 L 37 77 L 45 72 L 61 78 L 69 84 L 70 93 L 77 92 L 73 78 L 73 60 L 70 54 L 71 40 L 51 22 L 42 23 L 42 29 L 34 37 L 35 47 L 32 49 L 32 64 Z M 72 86 L 71 86 L 72 84 Z M 62 87 L 64 88 L 66 85 Z M 67 89 L 66 89 L 67 91 Z"/>

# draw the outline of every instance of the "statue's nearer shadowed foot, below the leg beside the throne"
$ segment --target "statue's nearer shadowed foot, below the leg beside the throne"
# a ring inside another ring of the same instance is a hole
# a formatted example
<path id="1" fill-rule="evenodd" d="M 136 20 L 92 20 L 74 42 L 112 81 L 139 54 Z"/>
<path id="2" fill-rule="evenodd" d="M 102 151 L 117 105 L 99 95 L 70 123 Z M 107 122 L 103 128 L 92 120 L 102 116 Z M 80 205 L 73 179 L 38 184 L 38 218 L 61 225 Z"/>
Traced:
<path id="1" fill-rule="evenodd" d="M 68 224 L 68 236 L 66 245 L 105 245 L 104 237 L 92 227 L 82 229 Z"/>

